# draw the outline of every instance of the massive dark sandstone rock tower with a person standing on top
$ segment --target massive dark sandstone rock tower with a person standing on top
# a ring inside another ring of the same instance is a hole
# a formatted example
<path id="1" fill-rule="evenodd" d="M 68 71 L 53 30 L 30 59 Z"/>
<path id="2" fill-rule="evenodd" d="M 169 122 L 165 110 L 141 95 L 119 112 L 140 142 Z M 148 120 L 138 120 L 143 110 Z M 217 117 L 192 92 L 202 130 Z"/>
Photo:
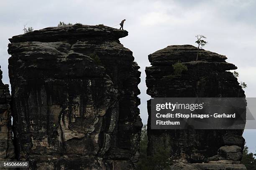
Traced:
<path id="1" fill-rule="evenodd" d="M 140 72 L 118 40 L 127 35 L 68 25 L 9 39 L 18 160 L 30 169 L 135 169 Z"/>

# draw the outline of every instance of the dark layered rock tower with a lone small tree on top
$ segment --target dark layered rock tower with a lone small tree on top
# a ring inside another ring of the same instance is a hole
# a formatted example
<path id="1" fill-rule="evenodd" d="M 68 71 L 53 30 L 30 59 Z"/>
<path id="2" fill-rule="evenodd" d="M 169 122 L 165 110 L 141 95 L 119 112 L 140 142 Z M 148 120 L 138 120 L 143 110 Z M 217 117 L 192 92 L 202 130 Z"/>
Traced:
<path id="1" fill-rule="evenodd" d="M 227 57 L 197 47 L 171 45 L 148 55 L 147 94 L 151 97 L 245 97 L 231 72 L 237 67 Z M 172 65 L 187 66 L 181 76 L 173 75 Z M 177 170 L 244 170 L 239 164 L 244 146 L 243 130 L 151 130 L 148 101 L 148 155 L 164 146 Z M 232 156 L 231 156 L 232 155 Z M 202 164 L 203 163 L 203 164 Z M 236 165 L 233 165 L 236 164 Z"/>

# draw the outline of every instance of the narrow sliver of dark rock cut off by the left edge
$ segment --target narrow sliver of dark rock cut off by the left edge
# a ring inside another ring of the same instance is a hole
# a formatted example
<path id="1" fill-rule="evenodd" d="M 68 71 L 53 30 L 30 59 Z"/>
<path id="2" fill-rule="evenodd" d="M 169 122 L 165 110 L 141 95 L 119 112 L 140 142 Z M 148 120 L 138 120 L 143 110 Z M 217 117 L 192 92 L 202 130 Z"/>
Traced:
<path id="1" fill-rule="evenodd" d="M 0 161 L 14 158 L 10 109 L 11 97 L 9 85 L 4 85 L 2 82 L 2 73 L 2 70 L 0 70 Z"/>

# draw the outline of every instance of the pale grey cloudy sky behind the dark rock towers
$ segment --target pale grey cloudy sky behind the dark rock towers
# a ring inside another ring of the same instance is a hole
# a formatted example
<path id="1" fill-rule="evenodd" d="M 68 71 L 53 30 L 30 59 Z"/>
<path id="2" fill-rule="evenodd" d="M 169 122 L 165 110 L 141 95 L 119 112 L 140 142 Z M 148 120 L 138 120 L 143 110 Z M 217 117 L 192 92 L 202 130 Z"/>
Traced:
<path id="1" fill-rule="evenodd" d="M 124 18 L 128 37 L 120 41 L 141 66 L 141 117 L 147 121 L 145 67 L 148 54 L 168 45 L 195 45 L 195 35 L 209 42 L 205 50 L 228 57 L 238 67 L 239 81 L 248 85 L 247 97 L 256 97 L 255 0 L 9 0 L 0 5 L 0 65 L 8 79 L 8 38 L 22 34 L 23 25 L 35 30 L 65 23 L 117 25 Z M 115 28 L 118 28 L 116 26 Z M 256 130 L 245 130 L 249 150 L 255 153 Z"/>

